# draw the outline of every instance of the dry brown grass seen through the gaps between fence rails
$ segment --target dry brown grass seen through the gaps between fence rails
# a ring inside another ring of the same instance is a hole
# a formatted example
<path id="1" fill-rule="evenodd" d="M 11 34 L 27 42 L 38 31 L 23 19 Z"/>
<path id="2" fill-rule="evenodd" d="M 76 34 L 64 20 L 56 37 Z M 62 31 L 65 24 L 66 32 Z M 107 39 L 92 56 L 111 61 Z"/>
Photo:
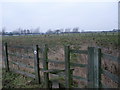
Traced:
<path id="1" fill-rule="evenodd" d="M 79 49 L 86 50 L 87 45 L 86 46 L 84 45 L 83 47 L 80 47 Z M 18 54 L 22 53 L 23 55 L 34 56 L 32 53 L 24 52 L 24 50 L 22 50 L 22 49 L 21 50 L 9 49 L 9 50 L 10 50 L 10 52 L 13 52 L 13 53 L 18 53 Z M 87 60 L 88 60 L 87 55 L 76 54 L 75 56 L 76 57 L 74 59 L 76 59 L 76 60 L 75 61 L 71 60 L 71 61 L 73 61 L 75 63 L 80 63 L 80 64 L 87 64 Z M 48 58 L 52 59 L 52 60 L 62 60 L 62 61 L 64 61 L 64 47 L 63 46 L 57 46 L 57 47 L 54 47 L 54 48 L 49 48 Z M 19 61 L 19 62 L 22 62 L 22 63 L 27 64 L 27 65 L 31 65 L 31 66 L 34 67 L 34 60 L 31 60 L 31 59 L 23 59 L 23 58 L 20 59 L 20 58 L 17 58 L 17 57 L 9 56 L 9 60 L 10 61 L 11 60 L 16 61 L 16 62 Z M 117 68 L 118 67 L 117 64 L 118 63 L 115 63 L 115 62 L 112 62 L 112 61 L 109 61 L 109 60 L 105 60 L 105 59 L 102 60 L 102 67 L 104 69 L 110 71 L 113 74 L 120 75 L 120 72 L 118 71 L 118 68 Z M 65 65 L 63 65 L 63 64 L 49 63 L 48 66 L 49 66 L 49 69 L 65 69 Z M 17 65 L 13 65 L 13 64 L 10 64 L 10 68 L 14 68 L 14 69 L 18 69 L 18 70 L 22 70 L 22 71 L 30 72 L 30 73 L 34 72 L 34 69 L 19 67 Z M 43 68 L 42 62 L 40 62 L 40 68 Z M 40 74 L 41 74 L 41 76 L 43 76 L 42 72 L 40 72 Z M 74 71 L 73 71 L 73 75 L 87 78 L 87 68 L 75 67 Z M 54 77 L 52 75 L 50 75 L 50 78 L 54 78 Z M 78 86 L 81 86 L 81 87 L 86 87 L 86 85 L 87 85 L 87 82 L 80 81 L 80 80 L 75 80 L 74 82 L 77 83 Z M 113 88 L 117 87 L 116 83 L 112 82 L 109 78 L 107 78 L 103 75 L 102 75 L 102 82 L 110 85 Z"/>

